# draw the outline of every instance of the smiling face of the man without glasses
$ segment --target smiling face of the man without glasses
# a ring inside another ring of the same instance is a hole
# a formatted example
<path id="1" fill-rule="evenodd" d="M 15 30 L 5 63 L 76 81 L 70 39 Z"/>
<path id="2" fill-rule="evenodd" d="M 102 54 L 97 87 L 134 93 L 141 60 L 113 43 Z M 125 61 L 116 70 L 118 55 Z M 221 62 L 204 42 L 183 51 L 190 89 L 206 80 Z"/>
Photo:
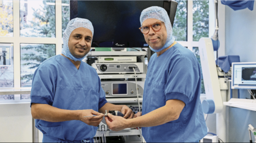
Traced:
<path id="1" fill-rule="evenodd" d="M 76 28 L 69 37 L 69 50 L 75 58 L 83 58 L 91 50 L 93 34 L 88 28 Z"/>

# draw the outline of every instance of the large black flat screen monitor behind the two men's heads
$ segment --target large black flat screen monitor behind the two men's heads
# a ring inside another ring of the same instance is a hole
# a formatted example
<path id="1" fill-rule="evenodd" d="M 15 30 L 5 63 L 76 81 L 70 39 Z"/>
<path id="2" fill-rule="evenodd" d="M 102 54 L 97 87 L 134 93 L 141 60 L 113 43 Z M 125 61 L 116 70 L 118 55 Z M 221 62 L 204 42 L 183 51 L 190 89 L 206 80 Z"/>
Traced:
<path id="1" fill-rule="evenodd" d="M 70 19 L 92 22 L 92 47 L 148 47 L 139 30 L 142 10 L 162 7 L 173 25 L 177 5 L 173 1 L 70 1 Z"/>

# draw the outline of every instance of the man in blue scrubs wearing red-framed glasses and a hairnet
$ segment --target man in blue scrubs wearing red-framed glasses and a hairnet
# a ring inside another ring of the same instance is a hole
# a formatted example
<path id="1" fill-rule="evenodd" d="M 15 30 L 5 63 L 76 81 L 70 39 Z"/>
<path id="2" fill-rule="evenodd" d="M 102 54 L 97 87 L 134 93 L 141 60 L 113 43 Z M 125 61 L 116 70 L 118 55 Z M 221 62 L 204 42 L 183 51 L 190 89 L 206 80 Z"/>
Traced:
<path id="1" fill-rule="evenodd" d="M 156 52 L 148 63 L 143 111 L 130 120 L 109 114 L 106 123 L 115 131 L 142 127 L 146 142 L 199 142 L 207 134 L 200 65 L 193 52 L 175 42 L 163 8 L 143 10 L 140 22 L 146 43 Z"/>

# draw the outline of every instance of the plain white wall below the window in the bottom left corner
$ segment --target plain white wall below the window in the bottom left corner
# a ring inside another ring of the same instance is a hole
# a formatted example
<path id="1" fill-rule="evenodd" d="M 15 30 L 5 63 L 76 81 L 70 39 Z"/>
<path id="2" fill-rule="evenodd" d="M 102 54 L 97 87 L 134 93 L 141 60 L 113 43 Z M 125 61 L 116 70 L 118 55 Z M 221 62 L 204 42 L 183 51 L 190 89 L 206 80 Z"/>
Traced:
<path id="1" fill-rule="evenodd" d="M 30 104 L 0 104 L 0 142 L 32 142 Z"/>

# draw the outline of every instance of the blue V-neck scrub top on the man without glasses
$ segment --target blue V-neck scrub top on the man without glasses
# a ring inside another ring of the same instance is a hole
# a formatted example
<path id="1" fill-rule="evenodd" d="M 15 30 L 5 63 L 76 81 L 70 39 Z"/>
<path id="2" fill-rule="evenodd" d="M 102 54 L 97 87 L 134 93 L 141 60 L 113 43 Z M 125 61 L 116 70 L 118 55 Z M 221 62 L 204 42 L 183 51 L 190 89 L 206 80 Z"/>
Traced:
<path id="1" fill-rule="evenodd" d="M 69 59 L 56 55 L 43 62 L 34 73 L 31 103 L 68 110 L 98 111 L 106 102 L 100 78 L 87 63 L 81 62 L 77 70 Z M 97 131 L 97 127 L 76 120 L 55 123 L 35 120 L 35 126 L 44 137 L 50 136 L 59 142 L 90 140 Z"/>

